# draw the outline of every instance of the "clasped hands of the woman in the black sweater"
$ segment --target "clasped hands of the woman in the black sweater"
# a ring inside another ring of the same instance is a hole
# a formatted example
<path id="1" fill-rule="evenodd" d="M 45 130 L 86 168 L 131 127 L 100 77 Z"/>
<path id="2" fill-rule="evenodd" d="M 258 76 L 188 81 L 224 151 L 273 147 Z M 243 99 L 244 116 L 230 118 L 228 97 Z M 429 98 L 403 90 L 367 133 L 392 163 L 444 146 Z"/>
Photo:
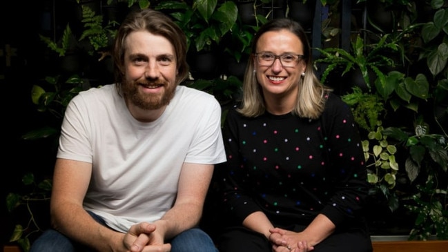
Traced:
<path id="1" fill-rule="evenodd" d="M 300 233 L 279 228 L 269 229 L 269 232 L 274 252 L 308 252 L 314 249 Z"/>

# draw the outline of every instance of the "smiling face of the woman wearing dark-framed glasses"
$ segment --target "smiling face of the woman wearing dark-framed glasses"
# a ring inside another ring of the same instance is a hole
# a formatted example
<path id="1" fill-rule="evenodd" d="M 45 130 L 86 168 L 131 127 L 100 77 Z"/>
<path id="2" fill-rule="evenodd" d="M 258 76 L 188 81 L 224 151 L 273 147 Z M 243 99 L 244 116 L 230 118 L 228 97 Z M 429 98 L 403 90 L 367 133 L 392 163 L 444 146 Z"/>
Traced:
<path id="1" fill-rule="evenodd" d="M 295 55 L 303 55 L 303 44 L 299 37 L 288 30 L 265 32 L 258 39 L 256 48 L 258 56 L 254 56 L 254 69 L 264 97 L 286 96 L 295 99 L 298 93 L 298 83 L 306 66 L 301 57 L 294 61 L 298 62 L 297 65 L 288 63 L 288 61 L 291 61 L 291 57 L 297 57 Z M 271 66 L 259 63 L 263 62 L 261 57 L 266 58 L 266 55 L 275 57 Z M 283 64 L 280 58 L 276 57 L 280 55 L 284 55 Z"/>

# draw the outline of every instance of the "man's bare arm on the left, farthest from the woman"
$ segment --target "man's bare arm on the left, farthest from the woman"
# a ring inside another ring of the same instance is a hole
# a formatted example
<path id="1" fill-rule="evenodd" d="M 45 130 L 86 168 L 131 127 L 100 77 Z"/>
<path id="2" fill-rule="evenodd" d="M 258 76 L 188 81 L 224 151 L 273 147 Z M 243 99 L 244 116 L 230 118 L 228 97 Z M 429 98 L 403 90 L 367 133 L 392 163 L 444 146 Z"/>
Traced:
<path id="1" fill-rule="evenodd" d="M 52 226 L 98 251 L 111 251 L 111 247 L 125 251 L 124 233 L 99 224 L 83 209 L 91 173 L 90 163 L 57 159 L 50 202 Z"/>

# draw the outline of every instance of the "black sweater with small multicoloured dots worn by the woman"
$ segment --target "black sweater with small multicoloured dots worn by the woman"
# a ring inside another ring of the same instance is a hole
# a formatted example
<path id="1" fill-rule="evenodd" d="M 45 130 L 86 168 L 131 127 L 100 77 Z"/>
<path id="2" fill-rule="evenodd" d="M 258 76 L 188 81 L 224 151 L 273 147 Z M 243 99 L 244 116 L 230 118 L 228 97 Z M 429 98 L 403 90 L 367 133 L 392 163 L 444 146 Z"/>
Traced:
<path id="1" fill-rule="evenodd" d="M 360 215 L 369 186 L 364 155 L 338 96 L 327 97 L 315 120 L 230 110 L 223 137 L 227 162 L 217 166 L 217 179 L 225 212 L 240 224 L 255 211 L 276 225 L 306 225 L 322 213 L 338 226 Z"/>

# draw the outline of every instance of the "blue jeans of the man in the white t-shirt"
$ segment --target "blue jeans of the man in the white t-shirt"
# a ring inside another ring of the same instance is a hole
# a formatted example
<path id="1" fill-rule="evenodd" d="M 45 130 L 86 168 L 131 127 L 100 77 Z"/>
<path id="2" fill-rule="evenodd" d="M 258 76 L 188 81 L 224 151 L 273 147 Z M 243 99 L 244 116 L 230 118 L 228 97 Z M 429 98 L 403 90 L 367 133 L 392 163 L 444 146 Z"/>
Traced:
<path id="1" fill-rule="evenodd" d="M 90 212 L 89 212 L 90 213 Z M 106 226 L 101 217 L 90 213 L 92 217 L 99 223 Z M 201 229 L 188 229 L 175 236 L 171 243 L 171 252 L 217 252 L 213 240 Z M 55 229 L 48 229 L 32 243 L 30 252 L 92 252 L 93 249 L 88 248 L 70 240 L 70 238 L 59 233 Z"/>

